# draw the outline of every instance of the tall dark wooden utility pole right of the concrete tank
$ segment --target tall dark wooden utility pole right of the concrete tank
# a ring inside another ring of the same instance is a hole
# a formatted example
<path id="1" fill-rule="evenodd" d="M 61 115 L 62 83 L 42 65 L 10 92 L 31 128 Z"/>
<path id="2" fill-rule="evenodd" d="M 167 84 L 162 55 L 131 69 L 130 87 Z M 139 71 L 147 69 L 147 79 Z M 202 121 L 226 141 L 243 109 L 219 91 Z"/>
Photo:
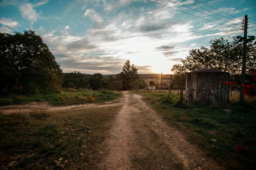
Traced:
<path id="1" fill-rule="evenodd" d="M 247 15 L 245 16 L 245 27 L 244 27 L 244 42 L 243 42 L 243 62 L 242 62 L 242 73 L 241 73 L 241 85 L 245 84 L 245 67 L 246 67 L 246 39 L 247 39 Z M 240 89 L 240 103 L 244 101 L 244 89 Z"/>

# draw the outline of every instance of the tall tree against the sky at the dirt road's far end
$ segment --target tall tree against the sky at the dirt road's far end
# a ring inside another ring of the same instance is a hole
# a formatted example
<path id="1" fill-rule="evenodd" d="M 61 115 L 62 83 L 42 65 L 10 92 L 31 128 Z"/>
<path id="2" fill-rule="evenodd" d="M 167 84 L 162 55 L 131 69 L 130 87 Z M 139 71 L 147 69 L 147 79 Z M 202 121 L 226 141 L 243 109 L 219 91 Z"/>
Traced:
<path id="1" fill-rule="evenodd" d="M 123 82 L 123 89 L 130 90 L 131 82 L 139 78 L 138 69 L 134 64 L 130 65 L 130 61 L 127 60 L 123 66 L 123 71 L 116 75 L 116 80 L 121 80 Z"/>

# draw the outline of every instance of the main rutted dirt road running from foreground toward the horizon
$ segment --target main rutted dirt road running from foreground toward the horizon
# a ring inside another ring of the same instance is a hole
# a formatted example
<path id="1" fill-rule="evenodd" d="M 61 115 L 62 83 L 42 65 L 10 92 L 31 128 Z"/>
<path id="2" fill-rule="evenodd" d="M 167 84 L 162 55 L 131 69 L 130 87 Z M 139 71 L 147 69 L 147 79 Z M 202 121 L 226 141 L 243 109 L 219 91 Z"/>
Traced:
<path id="1" fill-rule="evenodd" d="M 100 169 L 223 169 L 167 125 L 142 96 L 123 94 Z"/>

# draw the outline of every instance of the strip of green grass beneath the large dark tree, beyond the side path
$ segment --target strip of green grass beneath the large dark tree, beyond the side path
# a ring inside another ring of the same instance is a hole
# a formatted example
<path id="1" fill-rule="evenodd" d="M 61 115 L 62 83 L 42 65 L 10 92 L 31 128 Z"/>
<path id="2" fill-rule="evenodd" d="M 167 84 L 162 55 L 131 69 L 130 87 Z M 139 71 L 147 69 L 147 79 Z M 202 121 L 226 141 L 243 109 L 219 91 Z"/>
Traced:
<path id="1" fill-rule="evenodd" d="M 91 91 L 84 89 L 63 90 L 58 94 L 6 94 L 0 95 L 0 106 L 19 105 L 30 102 L 50 102 L 54 106 L 60 105 L 77 105 L 84 103 L 103 102 L 116 99 L 120 92 L 116 91 Z"/>

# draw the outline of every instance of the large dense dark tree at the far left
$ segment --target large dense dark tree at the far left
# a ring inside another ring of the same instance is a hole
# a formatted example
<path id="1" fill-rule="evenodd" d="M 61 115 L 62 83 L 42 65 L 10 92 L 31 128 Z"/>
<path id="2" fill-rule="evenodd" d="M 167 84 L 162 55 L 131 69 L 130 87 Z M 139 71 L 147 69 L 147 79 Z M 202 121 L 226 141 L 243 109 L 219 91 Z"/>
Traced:
<path id="1" fill-rule="evenodd" d="M 62 69 L 34 31 L 0 33 L 1 84 L 17 84 L 24 93 L 60 92 Z"/>

